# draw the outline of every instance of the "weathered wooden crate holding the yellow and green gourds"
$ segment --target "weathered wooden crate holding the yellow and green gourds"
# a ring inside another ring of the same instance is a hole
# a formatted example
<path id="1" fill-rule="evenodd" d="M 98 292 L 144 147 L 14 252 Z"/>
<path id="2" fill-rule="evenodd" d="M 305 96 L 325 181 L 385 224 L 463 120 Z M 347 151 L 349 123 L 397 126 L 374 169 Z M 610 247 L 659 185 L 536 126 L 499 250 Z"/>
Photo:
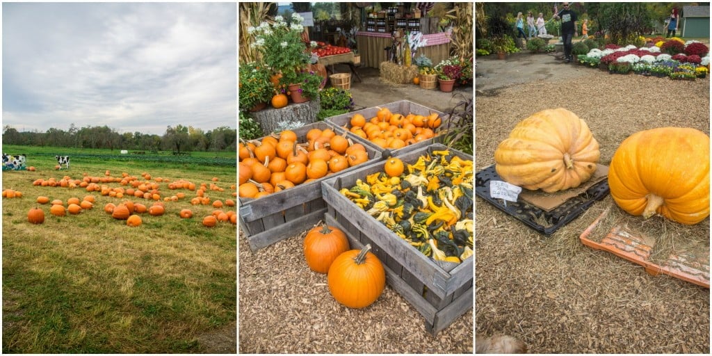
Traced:
<path id="1" fill-rule="evenodd" d="M 426 152 L 445 149 L 436 144 L 399 158 L 412 164 Z M 463 159 L 472 159 L 461 152 L 451 152 Z M 372 252 L 384 265 L 389 286 L 423 315 L 426 330 L 435 335 L 472 307 L 474 258 L 459 264 L 439 265 L 339 193 L 341 188 L 353 187 L 356 179 L 365 179 L 368 174 L 382 169 L 382 162 L 377 162 L 325 179 L 321 184 L 328 206 L 325 221 L 342 229 L 352 248 L 371 244 Z"/>

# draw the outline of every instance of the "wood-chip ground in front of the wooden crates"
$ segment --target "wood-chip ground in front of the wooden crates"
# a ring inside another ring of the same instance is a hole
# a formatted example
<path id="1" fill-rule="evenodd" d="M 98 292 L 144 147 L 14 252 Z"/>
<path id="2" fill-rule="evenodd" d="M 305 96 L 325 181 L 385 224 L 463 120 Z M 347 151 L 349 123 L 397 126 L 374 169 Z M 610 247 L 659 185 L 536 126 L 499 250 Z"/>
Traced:
<path id="1" fill-rule="evenodd" d="M 435 337 L 390 286 L 367 308 L 346 308 L 304 261 L 303 236 L 250 251 L 240 232 L 240 353 L 472 353 L 472 310 Z"/>

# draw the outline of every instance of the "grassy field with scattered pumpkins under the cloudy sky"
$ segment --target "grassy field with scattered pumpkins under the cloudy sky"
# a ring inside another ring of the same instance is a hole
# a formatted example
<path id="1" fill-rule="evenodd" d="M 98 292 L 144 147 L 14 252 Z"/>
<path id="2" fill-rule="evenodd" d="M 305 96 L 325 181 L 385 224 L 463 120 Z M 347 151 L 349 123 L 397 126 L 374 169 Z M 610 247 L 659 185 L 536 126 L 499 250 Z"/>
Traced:
<path id="1" fill-rule="evenodd" d="M 182 162 L 129 160 L 110 150 L 4 146 L 3 152 L 26 154 L 28 166 L 37 169 L 2 174 L 3 189 L 23 194 L 2 199 L 3 352 L 205 352 L 200 336 L 235 322 L 236 226 L 202 226 L 215 208 L 192 205 L 196 191 L 158 183 L 162 201 L 177 192 L 185 197 L 164 201 L 163 216 L 140 214 L 142 225 L 129 227 L 103 206 L 126 200 L 150 206 L 153 201 L 32 184 L 38 178 L 105 177 L 106 170 L 111 177 L 126 172 L 145 182 L 145 172 L 152 182 L 162 177 L 198 187 L 216 184 L 223 191 L 207 190 L 211 201 L 236 200 L 234 152 L 194 153 Z M 70 169 L 55 170 L 54 155 L 70 155 Z M 231 158 L 233 164 L 195 163 L 211 157 Z M 100 185 L 123 187 L 118 182 Z M 49 204 L 36 203 L 38 196 L 66 202 L 87 195 L 95 197 L 94 208 L 78 215 L 52 216 Z M 44 224 L 28 223 L 27 212 L 34 206 L 43 209 Z M 192 209 L 193 217 L 180 219 L 181 209 Z"/>

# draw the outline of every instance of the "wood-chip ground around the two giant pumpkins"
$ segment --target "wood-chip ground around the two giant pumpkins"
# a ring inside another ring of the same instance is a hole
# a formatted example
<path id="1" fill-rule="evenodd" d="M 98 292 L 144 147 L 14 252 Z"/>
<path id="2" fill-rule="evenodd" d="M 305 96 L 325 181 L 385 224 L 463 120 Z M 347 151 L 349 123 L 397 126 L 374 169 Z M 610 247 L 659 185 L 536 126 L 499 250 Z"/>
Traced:
<path id="1" fill-rule="evenodd" d="M 547 108 L 567 108 L 585 120 L 606 165 L 619 144 L 640 130 L 694 127 L 709 135 L 708 79 L 559 68 L 585 72 L 496 88 L 496 96 L 476 95 L 478 171 L 494 163 L 498 143 L 517 122 Z M 709 353 L 707 288 L 650 276 L 641 266 L 580 244 L 582 231 L 606 209 L 614 212 L 616 224 L 653 231 L 659 238 L 654 258 L 681 244 L 709 249 L 709 219 L 684 227 L 659 216 L 643 222 L 622 213 L 611 197 L 550 237 L 478 198 L 477 335 L 506 333 L 523 340 L 532 353 Z"/>

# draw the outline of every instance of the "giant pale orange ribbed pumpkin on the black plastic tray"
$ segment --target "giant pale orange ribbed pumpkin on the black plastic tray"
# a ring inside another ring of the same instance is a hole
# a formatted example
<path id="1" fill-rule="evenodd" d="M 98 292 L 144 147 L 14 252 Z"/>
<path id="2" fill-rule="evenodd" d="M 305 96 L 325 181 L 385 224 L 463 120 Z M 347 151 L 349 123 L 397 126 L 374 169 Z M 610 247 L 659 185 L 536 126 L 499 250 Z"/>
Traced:
<path id="1" fill-rule="evenodd" d="M 558 108 L 519 122 L 499 144 L 494 159 L 505 182 L 553 193 L 590 179 L 600 155 L 586 122 Z"/>

